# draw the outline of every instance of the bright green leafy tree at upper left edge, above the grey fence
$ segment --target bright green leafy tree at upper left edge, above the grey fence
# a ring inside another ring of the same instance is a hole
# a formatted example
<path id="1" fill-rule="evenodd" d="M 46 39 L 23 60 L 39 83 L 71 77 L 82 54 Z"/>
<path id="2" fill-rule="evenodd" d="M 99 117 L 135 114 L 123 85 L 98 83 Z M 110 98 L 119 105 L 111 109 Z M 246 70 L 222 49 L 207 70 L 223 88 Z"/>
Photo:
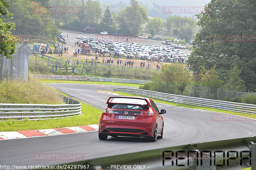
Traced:
<path id="1" fill-rule="evenodd" d="M 12 18 L 12 14 L 7 10 L 10 8 L 9 3 L 4 0 L 0 0 L 0 54 L 4 54 L 6 58 L 12 58 L 12 54 L 15 53 L 16 44 L 18 39 L 11 35 L 11 31 L 15 24 L 11 22 L 4 22 L 5 18 Z"/>

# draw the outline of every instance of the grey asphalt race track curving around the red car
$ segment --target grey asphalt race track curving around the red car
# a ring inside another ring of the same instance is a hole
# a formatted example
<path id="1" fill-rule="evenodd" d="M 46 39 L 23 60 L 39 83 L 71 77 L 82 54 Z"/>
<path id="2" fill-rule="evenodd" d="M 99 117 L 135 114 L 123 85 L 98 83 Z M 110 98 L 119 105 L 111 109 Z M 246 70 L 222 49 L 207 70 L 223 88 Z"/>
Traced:
<path id="1" fill-rule="evenodd" d="M 48 86 L 101 107 L 106 107 L 106 101 L 111 95 L 97 91 L 113 91 L 113 88 L 118 87 L 90 84 L 48 84 Z M 156 142 L 132 137 L 108 137 L 107 141 L 101 141 L 97 131 L 1 140 L 0 163 L 10 166 L 56 165 L 65 161 L 38 161 L 34 159 L 34 154 L 73 153 L 82 155 L 83 159 L 93 159 L 184 144 L 256 136 L 254 119 L 218 121 L 213 118 L 214 115 L 220 114 L 224 117 L 228 115 L 160 103 L 157 103 L 157 106 L 158 109 L 166 109 L 167 113 L 163 115 L 164 138 Z"/>

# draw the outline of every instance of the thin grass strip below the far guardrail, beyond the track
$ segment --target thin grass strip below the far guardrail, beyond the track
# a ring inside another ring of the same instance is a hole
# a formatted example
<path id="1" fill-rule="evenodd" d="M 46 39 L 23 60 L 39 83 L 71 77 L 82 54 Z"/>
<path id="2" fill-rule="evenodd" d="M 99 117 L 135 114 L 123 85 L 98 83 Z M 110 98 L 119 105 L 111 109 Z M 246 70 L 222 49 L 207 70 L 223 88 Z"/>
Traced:
<path id="1" fill-rule="evenodd" d="M 71 80 L 38 80 L 40 83 L 74 83 L 74 84 L 100 84 L 100 85 L 112 85 L 112 86 L 129 86 L 140 87 L 141 84 L 130 83 L 117 83 L 117 82 L 102 82 L 102 81 L 71 81 Z"/>

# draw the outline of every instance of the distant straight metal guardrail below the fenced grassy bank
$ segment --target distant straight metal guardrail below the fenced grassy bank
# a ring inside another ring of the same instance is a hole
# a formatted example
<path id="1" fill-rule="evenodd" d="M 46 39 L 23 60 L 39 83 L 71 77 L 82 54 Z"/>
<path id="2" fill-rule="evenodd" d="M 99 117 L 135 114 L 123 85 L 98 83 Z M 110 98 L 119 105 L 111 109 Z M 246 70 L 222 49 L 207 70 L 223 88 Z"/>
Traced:
<path id="1" fill-rule="evenodd" d="M 149 82 L 144 80 L 116 79 L 116 78 L 104 78 L 104 77 L 85 77 L 85 76 L 71 76 L 71 75 L 29 74 L 28 76 L 32 79 L 50 79 L 50 80 L 107 81 L 107 82 L 132 83 L 132 84 L 146 84 Z"/>

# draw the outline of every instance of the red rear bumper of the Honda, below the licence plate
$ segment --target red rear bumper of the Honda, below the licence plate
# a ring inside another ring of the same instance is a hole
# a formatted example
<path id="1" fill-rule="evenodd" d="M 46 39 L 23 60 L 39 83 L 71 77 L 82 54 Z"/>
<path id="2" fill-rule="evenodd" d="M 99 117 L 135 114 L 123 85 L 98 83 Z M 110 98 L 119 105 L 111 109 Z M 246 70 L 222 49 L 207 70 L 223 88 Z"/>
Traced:
<path id="1" fill-rule="evenodd" d="M 155 124 L 145 123 L 143 126 L 131 124 L 100 124 L 100 132 L 109 136 L 153 137 Z"/>

